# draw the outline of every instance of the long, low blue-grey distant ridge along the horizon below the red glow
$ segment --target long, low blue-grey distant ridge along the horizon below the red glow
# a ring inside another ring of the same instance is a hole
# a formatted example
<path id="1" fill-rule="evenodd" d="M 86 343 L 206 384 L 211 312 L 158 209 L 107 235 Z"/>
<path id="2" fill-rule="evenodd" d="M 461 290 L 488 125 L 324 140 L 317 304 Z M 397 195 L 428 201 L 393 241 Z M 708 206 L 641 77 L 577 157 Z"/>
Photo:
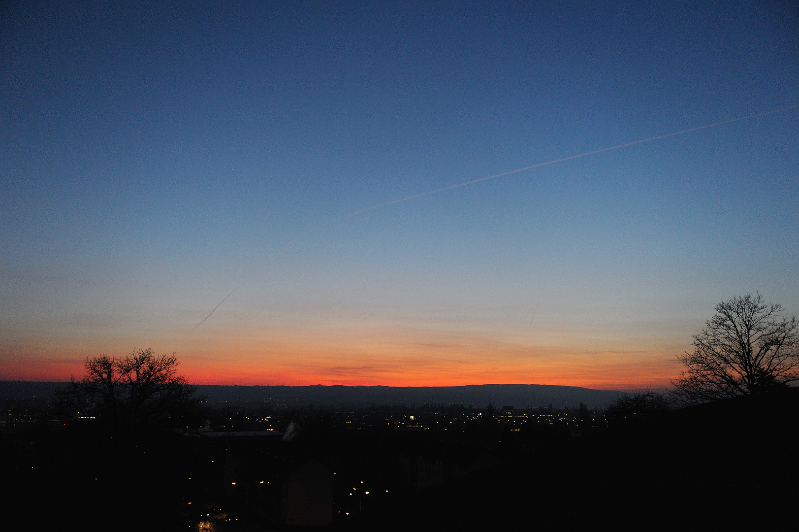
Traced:
<path id="1" fill-rule="evenodd" d="M 37 396 L 47 400 L 67 382 L 0 381 L 0 399 L 26 399 Z M 513 405 L 577 407 L 580 402 L 591 408 L 603 408 L 617 397 L 618 391 L 592 390 L 578 386 L 551 384 L 474 384 L 468 386 L 222 386 L 196 385 L 197 392 L 208 395 L 209 402 L 260 402 L 272 406 L 335 406 L 336 408 L 371 406 L 421 406 L 443 403 L 483 408 L 488 404 L 501 408 Z"/>

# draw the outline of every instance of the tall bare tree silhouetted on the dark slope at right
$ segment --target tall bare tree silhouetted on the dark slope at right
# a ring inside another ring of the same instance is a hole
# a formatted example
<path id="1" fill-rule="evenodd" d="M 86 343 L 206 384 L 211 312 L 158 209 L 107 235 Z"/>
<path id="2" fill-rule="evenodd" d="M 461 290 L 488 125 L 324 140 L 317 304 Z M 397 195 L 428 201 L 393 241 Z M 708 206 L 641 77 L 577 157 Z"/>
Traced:
<path id="1" fill-rule="evenodd" d="M 685 404 L 757 394 L 799 380 L 797 317 L 778 318 L 779 304 L 761 294 L 736 296 L 694 334 L 694 352 L 679 355 L 686 366 L 672 382 Z"/>

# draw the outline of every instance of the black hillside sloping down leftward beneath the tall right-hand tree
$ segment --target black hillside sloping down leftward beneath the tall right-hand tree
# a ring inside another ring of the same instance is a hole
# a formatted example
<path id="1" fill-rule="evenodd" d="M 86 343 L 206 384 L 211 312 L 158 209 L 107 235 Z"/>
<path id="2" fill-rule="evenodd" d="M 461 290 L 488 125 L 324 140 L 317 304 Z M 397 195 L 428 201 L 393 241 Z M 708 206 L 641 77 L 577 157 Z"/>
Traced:
<path id="1" fill-rule="evenodd" d="M 785 390 L 543 445 L 529 458 L 506 458 L 420 494 L 395 530 L 764 530 L 780 524 L 796 499 L 797 413 L 799 390 Z"/>

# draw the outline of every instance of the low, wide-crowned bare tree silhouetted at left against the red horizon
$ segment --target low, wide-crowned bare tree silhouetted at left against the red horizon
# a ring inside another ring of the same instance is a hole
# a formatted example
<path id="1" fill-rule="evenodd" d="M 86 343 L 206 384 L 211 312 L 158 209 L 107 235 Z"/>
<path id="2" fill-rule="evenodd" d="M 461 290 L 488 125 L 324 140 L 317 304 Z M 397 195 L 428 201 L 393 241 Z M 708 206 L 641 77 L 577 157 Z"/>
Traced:
<path id="1" fill-rule="evenodd" d="M 86 358 L 85 377 L 72 379 L 57 399 L 71 418 L 94 418 L 114 434 L 145 429 L 185 428 L 202 398 L 182 375 L 177 358 L 134 350 L 125 358 Z"/>

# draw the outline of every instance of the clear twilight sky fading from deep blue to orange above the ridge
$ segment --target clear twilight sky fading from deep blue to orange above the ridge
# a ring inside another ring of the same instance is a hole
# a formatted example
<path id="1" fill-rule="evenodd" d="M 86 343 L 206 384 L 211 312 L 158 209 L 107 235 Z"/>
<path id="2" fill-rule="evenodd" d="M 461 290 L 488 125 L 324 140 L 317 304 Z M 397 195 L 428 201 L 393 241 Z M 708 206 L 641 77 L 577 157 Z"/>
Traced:
<path id="1" fill-rule="evenodd" d="M 799 312 L 793 2 L 0 17 L 0 379 L 629 390 L 721 300 Z"/>

